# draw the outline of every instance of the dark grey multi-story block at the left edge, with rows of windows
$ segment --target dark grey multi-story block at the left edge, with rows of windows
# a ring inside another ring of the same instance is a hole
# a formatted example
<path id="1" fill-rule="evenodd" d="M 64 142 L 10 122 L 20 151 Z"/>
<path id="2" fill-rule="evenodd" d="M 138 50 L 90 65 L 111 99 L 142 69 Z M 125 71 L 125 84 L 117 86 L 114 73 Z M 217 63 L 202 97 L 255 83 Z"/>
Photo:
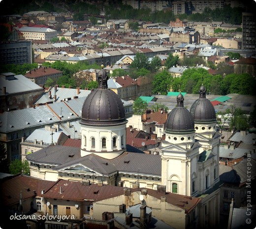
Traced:
<path id="1" fill-rule="evenodd" d="M 6 41 L 0 43 L 0 64 L 31 64 L 31 41 Z"/>

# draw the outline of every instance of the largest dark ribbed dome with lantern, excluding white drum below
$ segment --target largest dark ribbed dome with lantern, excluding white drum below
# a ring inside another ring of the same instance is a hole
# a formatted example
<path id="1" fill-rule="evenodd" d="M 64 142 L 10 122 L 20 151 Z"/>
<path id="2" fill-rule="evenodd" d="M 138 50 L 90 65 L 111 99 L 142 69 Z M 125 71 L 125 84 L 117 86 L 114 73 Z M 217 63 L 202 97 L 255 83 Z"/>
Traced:
<path id="1" fill-rule="evenodd" d="M 126 121 L 123 102 L 107 88 L 107 72 L 101 69 L 97 76 L 98 88 L 86 98 L 80 124 L 89 126 L 116 126 Z"/>

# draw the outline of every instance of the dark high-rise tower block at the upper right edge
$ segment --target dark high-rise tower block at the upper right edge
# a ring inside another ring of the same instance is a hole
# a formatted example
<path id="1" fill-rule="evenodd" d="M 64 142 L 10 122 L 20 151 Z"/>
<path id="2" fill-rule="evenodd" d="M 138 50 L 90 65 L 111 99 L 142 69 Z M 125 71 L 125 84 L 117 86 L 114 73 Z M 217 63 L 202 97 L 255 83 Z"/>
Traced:
<path id="1" fill-rule="evenodd" d="M 244 12 L 242 17 L 242 49 L 256 51 L 256 16 Z"/>

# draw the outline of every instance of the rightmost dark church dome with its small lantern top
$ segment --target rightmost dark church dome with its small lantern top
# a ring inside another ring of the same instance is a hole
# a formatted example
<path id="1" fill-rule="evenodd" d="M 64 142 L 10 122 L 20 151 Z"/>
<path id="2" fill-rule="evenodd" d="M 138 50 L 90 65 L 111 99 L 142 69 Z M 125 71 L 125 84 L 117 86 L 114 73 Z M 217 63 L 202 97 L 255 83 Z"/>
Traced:
<path id="1" fill-rule="evenodd" d="M 199 99 L 192 104 L 190 112 L 195 122 L 216 122 L 214 106 L 206 99 L 206 89 L 203 85 L 199 90 Z"/>

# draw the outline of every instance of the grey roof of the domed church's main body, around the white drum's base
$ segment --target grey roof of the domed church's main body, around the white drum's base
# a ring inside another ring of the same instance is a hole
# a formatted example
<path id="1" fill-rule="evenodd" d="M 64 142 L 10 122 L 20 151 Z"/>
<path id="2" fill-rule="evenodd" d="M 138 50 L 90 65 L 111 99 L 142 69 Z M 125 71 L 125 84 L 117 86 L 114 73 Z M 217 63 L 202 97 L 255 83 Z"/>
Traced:
<path id="1" fill-rule="evenodd" d="M 80 148 L 55 145 L 31 153 L 26 158 L 39 164 L 57 165 L 55 170 L 80 163 L 103 175 L 119 171 L 120 173 L 139 173 L 161 177 L 160 155 L 125 152 L 109 160 L 94 154 L 81 157 L 80 151 Z"/>

